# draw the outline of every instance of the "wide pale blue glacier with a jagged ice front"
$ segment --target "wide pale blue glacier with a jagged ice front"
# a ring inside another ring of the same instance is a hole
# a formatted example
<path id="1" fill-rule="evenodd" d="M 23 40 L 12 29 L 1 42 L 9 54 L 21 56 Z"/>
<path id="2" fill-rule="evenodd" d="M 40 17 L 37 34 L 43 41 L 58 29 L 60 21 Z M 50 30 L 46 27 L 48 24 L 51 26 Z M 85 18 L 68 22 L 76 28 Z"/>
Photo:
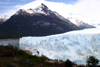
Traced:
<path id="1" fill-rule="evenodd" d="M 100 60 L 100 29 L 85 29 L 45 37 L 22 37 L 20 48 L 50 59 L 85 64 L 90 55 Z"/>

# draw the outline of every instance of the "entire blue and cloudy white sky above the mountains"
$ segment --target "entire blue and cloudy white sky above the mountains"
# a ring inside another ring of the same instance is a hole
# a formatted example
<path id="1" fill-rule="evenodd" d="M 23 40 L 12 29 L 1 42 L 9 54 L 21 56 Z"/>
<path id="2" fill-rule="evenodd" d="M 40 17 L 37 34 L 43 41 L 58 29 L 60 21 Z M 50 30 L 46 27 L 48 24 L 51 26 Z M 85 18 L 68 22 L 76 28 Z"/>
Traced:
<path id="1" fill-rule="evenodd" d="M 100 19 L 100 0 L 0 0 L 0 16 L 11 16 L 19 9 L 36 8 L 44 3 L 60 15 L 85 22 Z"/>

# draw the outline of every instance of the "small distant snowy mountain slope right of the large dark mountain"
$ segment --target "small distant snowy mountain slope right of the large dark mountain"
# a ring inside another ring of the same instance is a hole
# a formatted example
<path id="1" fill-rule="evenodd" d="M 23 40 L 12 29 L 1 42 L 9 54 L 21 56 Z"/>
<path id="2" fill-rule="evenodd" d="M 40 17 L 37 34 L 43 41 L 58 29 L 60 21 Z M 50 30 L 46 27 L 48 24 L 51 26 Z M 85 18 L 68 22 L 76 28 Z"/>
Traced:
<path id="1" fill-rule="evenodd" d="M 89 25 L 88 23 L 85 23 L 77 18 L 68 17 L 67 19 L 69 19 L 73 24 L 78 26 L 80 29 L 95 28 L 95 26 Z"/>

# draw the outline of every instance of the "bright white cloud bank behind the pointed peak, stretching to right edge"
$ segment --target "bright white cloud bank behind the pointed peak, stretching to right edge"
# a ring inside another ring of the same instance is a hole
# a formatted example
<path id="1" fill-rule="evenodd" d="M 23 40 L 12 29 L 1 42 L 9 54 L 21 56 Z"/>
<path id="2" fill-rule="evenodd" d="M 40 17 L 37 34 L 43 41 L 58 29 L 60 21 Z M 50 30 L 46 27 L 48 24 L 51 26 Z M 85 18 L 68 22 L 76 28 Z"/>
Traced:
<path id="1" fill-rule="evenodd" d="M 100 19 L 100 0 L 78 0 L 75 4 L 65 4 L 63 2 L 50 2 L 46 0 L 35 0 L 25 5 L 16 5 L 16 9 L 36 8 L 41 3 L 47 5 L 51 10 L 67 17 L 76 17 L 85 22 L 91 19 Z"/>

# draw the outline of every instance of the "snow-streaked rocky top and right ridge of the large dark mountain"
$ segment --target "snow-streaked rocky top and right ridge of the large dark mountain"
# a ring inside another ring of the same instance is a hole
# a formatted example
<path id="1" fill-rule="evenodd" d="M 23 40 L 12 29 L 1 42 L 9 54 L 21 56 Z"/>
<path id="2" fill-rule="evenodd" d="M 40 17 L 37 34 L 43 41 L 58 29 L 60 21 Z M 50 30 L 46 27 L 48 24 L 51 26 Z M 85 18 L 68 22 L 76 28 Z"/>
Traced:
<path id="1" fill-rule="evenodd" d="M 59 18 L 63 21 L 67 21 L 67 23 L 71 24 L 71 22 L 67 19 L 65 19 L 63 16 L 59 15 L 57 12 L 50 10 L 46 5 L 43 3 L 41 6 L 38 6 L 37 8 L 29 8 L 29 9 L 20 9 L 15 13 L 15 15 L 39 15 L 43 14 L 46 16 L 50 16 L 53 18 Z"/>

